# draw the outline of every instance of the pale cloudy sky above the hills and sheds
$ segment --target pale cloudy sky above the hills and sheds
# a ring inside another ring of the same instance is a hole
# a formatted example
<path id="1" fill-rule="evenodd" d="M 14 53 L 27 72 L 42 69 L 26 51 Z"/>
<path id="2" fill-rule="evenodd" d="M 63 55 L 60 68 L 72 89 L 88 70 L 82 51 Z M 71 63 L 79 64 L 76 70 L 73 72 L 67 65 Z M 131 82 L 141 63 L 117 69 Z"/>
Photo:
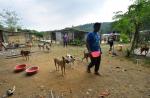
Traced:
<path id="1" fill-rule="evenodd" d="M 111 22 L 114 12 L 126 12 L 132 0 L 0 0 L 15 11 L 24 29 L 58 30 L 94 22 Z"/>

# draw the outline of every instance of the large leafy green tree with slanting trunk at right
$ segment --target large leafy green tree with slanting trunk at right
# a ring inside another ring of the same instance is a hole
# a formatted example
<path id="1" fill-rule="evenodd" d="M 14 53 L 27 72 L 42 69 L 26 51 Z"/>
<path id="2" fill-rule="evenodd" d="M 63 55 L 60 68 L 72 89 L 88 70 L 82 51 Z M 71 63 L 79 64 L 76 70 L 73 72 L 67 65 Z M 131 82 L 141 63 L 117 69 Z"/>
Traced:
<path id="1" fill-rule="evenodd" d="M 124 14 L 118 14 L 115 16 L 115 19 L 118 21 L 118 24 L 122 24 L 123 28 L 121 30 L 129 30 L 132 33 L 131 47 L 129 54 L 133 53 L 133 50 L 140 43 L 139 31 L 142 30 L 146 21 L 150 21 L 150 0 L 136 0 L 134 4 L 130 5 L 128 11 Z M 122 23 L 123 22 L 123 23 Z M 128 25 L 127 25 L 128 24 Z M 132 27 L 131 29 L 129 29 Z"/>

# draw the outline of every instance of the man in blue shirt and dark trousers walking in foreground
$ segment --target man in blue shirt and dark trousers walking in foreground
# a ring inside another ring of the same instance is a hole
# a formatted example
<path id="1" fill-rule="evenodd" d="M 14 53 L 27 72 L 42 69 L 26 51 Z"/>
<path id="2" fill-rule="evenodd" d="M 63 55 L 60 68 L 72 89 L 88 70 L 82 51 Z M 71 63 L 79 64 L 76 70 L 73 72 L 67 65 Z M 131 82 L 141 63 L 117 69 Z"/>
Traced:
<path id="1" fill-rule="evenodd" d="M 99 67 L 101 62 L 101 47 L 100 47 L 100 36 L 98 34 L 98 31 L 100 30 L 101 23 L 95 23 L 93 28 L 93 32 L 89 32 L 86 39 L 86 47 L 90 54 L 91 62 L 87 67 L 87 72 L 91 73 L 91 68 L 95 66 L 95 75 L 100 75 Z M 97 57 L 92 56 L 92 52 L 99 51 L 99 55 Z"/>

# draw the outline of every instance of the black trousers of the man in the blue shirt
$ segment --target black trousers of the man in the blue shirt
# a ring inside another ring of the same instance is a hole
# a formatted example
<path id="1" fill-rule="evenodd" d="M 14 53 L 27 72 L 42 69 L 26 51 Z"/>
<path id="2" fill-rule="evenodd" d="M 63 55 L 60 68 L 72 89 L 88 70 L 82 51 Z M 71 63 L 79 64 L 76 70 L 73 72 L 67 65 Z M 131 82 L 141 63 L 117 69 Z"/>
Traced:
<path id="1" fill-rule="evenodd" d="M 99 67 L 100 67 L 100 62 L 101 62 L 101 56 L 99 56 L 97 58 L 93 58 L 92 56 L 90 56 L 90 59 L 91 59 L 91 62 L 88 65 L 88 70 L 90 70 L 90 68 L 95 66 L 95 72 L 98 72 Z"/>

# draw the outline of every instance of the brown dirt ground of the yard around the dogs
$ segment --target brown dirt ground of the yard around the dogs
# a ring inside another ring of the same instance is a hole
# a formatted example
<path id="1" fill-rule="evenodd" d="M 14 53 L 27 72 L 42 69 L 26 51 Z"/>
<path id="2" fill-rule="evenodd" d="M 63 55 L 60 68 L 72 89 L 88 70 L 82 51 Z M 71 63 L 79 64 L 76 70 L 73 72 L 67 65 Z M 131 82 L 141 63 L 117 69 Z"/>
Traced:
<path id="1" fill-rule="evenodd" d="M 51 51 L 32 53 L 29 61 L 22 57 L 5 59 L 0 57 L 0 98 L 6 90 L 16 86 L 11 98 L 51 98 L 50 90 L 57 98 L 100 98 L 98 95 L 108 90 L 105 98 L 150 98 L 150 69 L 137 65 L 121 56 L 109 55 L 108 46 L 102 46 L 102 62 L 100 73 L 96 76 L 86 73 L 88 62 L 81 61 L 85 47 L 52 46 Z M 69 53 L 76 57 L 74 65 L 66 65 L 66 74 L 62 77 L 60 71 L 55 71 L 54 57 L 62 57 Z M 39 66 L 39 72 L 32 76 L 26 73 L 14 73 L 17 64 Z M 40 96 L 41 97 L 40 97 Z"/>

